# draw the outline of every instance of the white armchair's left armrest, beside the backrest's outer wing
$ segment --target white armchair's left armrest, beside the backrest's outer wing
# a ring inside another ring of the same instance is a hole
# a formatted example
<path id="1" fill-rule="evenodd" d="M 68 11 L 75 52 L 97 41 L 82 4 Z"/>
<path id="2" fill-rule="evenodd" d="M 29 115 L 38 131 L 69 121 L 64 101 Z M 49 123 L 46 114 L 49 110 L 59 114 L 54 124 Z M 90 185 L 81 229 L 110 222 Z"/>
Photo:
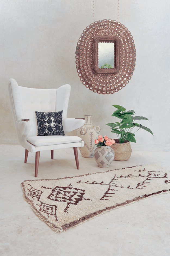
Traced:
<path id="1" fill-rule="evenodd" d="M 27 138 L 28 133 L 31 129 L 32 123 L 29 119 L 21 119 L 17 121 L 17 133 L 21 139 Z"/>

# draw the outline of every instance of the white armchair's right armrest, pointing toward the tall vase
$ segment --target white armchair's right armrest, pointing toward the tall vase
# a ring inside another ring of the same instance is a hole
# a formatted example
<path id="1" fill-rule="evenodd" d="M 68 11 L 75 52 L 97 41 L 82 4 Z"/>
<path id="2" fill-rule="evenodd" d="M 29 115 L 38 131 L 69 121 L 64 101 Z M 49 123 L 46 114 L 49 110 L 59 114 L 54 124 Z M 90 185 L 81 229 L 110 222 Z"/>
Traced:
<path id="1" fill-rule="evenodd" d="M 63 119 L 64 133 L 71 132 L 83 126 L 85 124 L 84 118 L 65 118 Z"/>

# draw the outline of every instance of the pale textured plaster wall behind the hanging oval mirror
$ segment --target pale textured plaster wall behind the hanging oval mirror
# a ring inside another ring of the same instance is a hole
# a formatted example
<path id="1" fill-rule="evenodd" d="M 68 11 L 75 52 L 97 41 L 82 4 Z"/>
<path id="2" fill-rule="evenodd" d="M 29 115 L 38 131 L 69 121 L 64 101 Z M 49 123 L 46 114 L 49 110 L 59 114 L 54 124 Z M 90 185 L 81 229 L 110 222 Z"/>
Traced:
<path id="1" fill-rule="evenodd" d="M 94 20 L 117 20 L 117 0 L 95 0 Z M 134 75 L 113 95 L 98 95 L 82 85 L 75 68 L 75 48 L 82 31 L 92 23 L 92 0 L 1 0 L 0 3 L 0 142 L 18 143 L 7 85 L 72 87 L 68 117 L 93 116 L 101 134 L 115 138 L 105 124 L 113 104 L 134 109 L 149 118 L 142 124 L 154 136 L 136 133 L 138 150 L 170 150 L 169 9 L 165 0 L 119 0 L 119 22 L 131 31 L 137 50 Z M 73 132 L 74 134 L 74 132 Z"/>

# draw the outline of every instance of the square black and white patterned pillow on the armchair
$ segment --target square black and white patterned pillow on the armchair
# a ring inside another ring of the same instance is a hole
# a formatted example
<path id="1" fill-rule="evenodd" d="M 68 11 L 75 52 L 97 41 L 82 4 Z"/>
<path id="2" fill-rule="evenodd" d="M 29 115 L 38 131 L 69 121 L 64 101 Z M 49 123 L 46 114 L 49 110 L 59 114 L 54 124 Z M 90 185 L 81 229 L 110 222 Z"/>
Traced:
<path id="1" fill-rule="evenodd" d="M 38 136 L 65 135 L 62 125 L 63 110 L 58 112 L 35 112 Z"/>

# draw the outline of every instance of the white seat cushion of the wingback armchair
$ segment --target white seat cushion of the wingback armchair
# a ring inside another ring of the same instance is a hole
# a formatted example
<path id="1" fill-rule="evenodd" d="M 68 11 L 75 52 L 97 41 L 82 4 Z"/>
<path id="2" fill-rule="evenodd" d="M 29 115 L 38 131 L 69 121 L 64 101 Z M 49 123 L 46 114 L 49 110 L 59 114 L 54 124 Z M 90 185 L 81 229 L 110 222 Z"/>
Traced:
<path id="1" fill-rule="evenodd" d="M 62 135 L 49 135 L 49 136 L 31 136 L 27 141 L 34 146 L 48 146 L 64 143 L 79 142 L 82 139 L 78 136 L 62 136 Z"/>

